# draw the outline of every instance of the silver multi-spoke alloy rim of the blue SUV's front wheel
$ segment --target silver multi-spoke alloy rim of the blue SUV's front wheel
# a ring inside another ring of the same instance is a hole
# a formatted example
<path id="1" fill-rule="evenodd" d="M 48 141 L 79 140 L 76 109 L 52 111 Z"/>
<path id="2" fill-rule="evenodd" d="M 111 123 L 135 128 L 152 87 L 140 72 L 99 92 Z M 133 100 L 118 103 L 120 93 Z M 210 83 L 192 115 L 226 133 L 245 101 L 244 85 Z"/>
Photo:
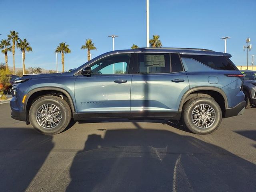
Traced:
<path id="1" fill-rule="evenodd" d="M 36 110 L 36 121 L 42 128 L 55 128 L 61 119 L 60 108 L 54 104 L 43 104 Z"/>

